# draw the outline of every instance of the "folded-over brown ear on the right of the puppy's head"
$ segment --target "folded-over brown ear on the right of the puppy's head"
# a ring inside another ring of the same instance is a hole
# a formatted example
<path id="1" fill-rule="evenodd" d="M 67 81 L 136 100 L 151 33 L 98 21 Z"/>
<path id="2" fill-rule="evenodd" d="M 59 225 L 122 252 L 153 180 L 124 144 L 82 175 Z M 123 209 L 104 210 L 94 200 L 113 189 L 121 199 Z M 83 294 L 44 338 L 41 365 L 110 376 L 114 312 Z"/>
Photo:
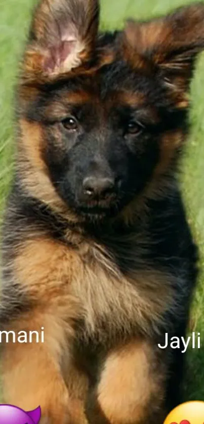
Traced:
<path id="1" fill-rule="evenodd" d="M 189 90 L 197 54 L 204 50 L 204 4 L 177 9 L 164 18 L 129 21 L 124 30 L 124 55 L 136 69 L 159 76 L 175 94 Z M 179 98 L 179 97 L 178 97 Z"/>

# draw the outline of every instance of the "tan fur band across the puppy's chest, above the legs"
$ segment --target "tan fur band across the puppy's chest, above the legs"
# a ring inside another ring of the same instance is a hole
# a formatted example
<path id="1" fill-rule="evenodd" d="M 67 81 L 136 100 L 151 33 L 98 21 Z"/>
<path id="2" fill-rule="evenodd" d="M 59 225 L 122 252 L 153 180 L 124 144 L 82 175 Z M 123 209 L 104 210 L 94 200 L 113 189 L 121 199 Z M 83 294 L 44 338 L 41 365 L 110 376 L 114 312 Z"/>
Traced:
<path id="1" fill-rule="evenodd" d="M 125 255 L 123 244 L 120 254 Z M 108 251 L 92 242 L 81 241 L 77 252 L 46 238 L 33 239 L 21 248 L 15 270 L 17 280 L 33 299 L 37 296 L 39 304 L 62 302 L 67 305 L 67 318 L 83 316 L 87 335 L 96 333 L 101 338 L 104 317 L 113 337 L 118 330 L 129 334 L 133 325 L 148 333 L 149 322 L 157 325 L 173 302 L 170 275 L 146 264 L 146 271 L 133 269 L 125 277 Z"/>

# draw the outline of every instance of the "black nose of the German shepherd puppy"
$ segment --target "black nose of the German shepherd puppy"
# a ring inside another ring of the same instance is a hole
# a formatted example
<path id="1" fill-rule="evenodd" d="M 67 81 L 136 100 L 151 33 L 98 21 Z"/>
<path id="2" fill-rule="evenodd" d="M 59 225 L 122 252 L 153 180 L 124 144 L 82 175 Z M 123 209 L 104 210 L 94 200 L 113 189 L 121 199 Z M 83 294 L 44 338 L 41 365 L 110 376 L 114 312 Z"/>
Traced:
<path id="1" fill-rule="evenodd" d="M 114 191 L 112 178 L 86 177 L 83 182 L 83 191 L 87 198 L 104 198 Z"/>

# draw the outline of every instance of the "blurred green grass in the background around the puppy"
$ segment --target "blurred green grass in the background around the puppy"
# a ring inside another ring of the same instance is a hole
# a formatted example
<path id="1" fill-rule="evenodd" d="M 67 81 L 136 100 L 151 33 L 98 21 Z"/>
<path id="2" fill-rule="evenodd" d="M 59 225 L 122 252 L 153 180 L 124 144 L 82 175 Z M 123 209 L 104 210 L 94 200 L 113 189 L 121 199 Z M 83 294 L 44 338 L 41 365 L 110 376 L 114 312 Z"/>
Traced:
<path id="1" fill-rule="evenodd" d="M 146 18 L 186 4 L 182 0 L 101 0 L 102 28 L 121 27 L 126 17 Z M 189 2 L 188 2 L 189 3 Z M 0 0 L 0 212 L 5 204 L 14 155 L 13 89 L 33 0 Z M 200 247 L 204 270 L 204 56 L 200 57 L 191 88 L 192 130 L 183 163 L 182 187 L 189 222 Z M 204 273 L 195 293 L 193 329 L 204 341 Z M 204 349 L 204 346 L 203 346 Z M 189 351 L 186 399 L 204 400 L 204 350 Z"/>

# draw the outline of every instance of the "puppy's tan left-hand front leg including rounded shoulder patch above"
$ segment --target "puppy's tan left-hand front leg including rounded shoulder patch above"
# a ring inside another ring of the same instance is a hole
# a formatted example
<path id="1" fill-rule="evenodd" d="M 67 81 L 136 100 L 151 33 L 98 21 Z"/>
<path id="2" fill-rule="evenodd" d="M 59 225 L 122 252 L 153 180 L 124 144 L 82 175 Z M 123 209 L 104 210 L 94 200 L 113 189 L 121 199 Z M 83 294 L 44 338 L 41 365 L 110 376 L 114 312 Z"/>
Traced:
<path id="1" fill-rule="evenodd" d="M 75 373 L 70 352 L 78 313 L 77 300 L 69 293 L 69 251 L 50 240 L 31 241 L 21 248 L 12 266 L 17 291 L 24 296 L 27 293 L 31 306 L 29 311 L 19 312 L 4 329 L 14 331 L 16 338 L 19 333 L 22 341 L 23 334 L 40 333 L 44 327 L 45 340 L 4 343 L 4 401 L 25 410 L 40 405 L 42 422 L 46 424 L 85 424 L 81 392 L 86 391 L 86 377 L 81 376 L 82 383 L 77 387 L 68 388 L 63 374 L 65 368 L 72 379 Z M 80 381 L 80 374 L 77 378 Z"/>

